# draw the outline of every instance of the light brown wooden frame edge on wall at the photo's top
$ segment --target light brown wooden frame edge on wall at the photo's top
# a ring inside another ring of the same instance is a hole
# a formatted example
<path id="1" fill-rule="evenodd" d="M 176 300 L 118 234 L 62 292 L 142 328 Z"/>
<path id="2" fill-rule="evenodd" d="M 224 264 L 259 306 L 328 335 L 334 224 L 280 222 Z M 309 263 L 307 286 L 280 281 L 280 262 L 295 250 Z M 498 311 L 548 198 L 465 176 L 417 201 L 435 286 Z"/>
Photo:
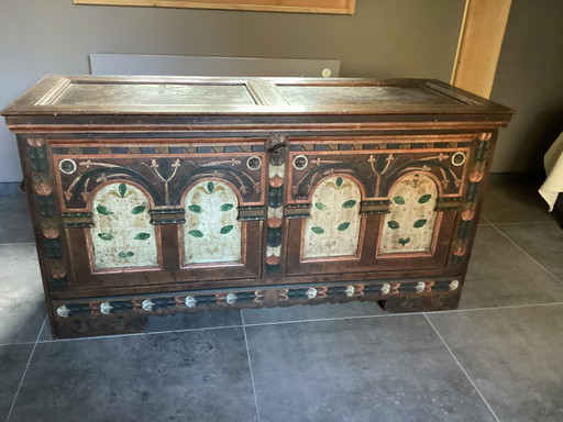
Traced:
<path id="1" fill-rule="evenodd" d="M 355 9 L 355 0 L 74 0 L 74 3 L 333 14 L 353 14 Z"/>

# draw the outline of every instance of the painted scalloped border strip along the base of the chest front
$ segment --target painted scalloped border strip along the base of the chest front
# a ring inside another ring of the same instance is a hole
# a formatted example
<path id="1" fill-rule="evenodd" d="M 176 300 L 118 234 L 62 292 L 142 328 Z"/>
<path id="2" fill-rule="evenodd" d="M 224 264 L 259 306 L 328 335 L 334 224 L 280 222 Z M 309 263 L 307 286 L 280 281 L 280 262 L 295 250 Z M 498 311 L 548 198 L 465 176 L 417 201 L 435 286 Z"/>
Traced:
<path id="1" fill-rule="evenodd" d="M 383 300 L 389 297 L 435 296 L 450 293 L 461 288 L 457 279 L 437 280 L 388 280 L 376 282 L 347 282 L 328 285 L 295 285 L 282 287 L 201 290 L 175 292 L 168 295 L 142 295 L 137 297 L 111 297 L 92 300 L 73 300 L 56 302 L 59 318 L 84 315 L 110 315 L 122 313 L 170 313 L 199 312 L 213 309 L 244 308 L 253 303 L 261 306 L 289 306 L 292 303 L 317 303 L 321 301 L 342 301 L 353 299 Z M 433 293 L 433 295 L 432 295 Z"/>

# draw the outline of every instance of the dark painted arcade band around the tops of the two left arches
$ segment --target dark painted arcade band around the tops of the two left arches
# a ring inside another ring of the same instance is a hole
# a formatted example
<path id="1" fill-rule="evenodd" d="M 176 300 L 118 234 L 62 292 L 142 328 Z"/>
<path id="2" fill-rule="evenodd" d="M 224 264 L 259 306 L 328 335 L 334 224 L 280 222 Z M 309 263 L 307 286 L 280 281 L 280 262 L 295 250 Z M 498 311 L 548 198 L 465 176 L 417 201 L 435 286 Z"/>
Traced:
<path id="1" fill-rule="evenodd" d="M 219 177 L 236 185 L 238 190 L 243 193 L 244 207 L 262 206 L 265 199 L 260 187 L 266 176 L 266 170 L 262 169 L 265 154 L 256 153 L 249 156 L 250 154 L 236 155 L 229 159 L 213 157 L 214 162 L 212 163 L 194 162 L 196 158 L 205 160 L 212 157 L 210 154 L 200 154 L 192 158 L 179 154 L 157 156 L 156 158 L 152 155 L 133 153 L 84 157 L 57 154 L 53 156 L 55 165 L 58 164 L 60 170 L 55 173 L 57 199 L 63 212 L 88 212 L 88 201 L 92 190 L 100 182 L 111 178 L 141 185 L 158 209 L 176 209 L 180 207 L 180 197 L 184 191 L 175 187 L 189 185 L 202 177 Z M 139 162 L 135 162 L 134 165 L 126 165 L 123 164 L 123 158 L 139 158 Z M 85 167 L 86 170 L 74 175 L 79 167 Z M 146 171 L 147 168 L 150 171 Z M 254 176 L 252 173 L 255 173 Z M 258 177 L 255 177 L 256 175 Z M 181 219 L 183 215 L 176 218 L 178 221 Z M 157 218 L 155 221 L 159 221 L 159 219 Z"/>

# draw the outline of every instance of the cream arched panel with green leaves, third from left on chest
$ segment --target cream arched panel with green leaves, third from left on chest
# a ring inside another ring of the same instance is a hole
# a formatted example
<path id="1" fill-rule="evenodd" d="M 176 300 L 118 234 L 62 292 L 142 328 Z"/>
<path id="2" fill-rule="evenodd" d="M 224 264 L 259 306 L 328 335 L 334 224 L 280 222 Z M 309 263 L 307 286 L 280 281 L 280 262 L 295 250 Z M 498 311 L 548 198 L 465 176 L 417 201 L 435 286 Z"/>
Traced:
<path id="1" fill-rule="evenodd" d="M 360 188 L 347 177 L 329 177 L 317 186 L 305 225 L 303 258 L 357 254 L 361 198 Z"/>

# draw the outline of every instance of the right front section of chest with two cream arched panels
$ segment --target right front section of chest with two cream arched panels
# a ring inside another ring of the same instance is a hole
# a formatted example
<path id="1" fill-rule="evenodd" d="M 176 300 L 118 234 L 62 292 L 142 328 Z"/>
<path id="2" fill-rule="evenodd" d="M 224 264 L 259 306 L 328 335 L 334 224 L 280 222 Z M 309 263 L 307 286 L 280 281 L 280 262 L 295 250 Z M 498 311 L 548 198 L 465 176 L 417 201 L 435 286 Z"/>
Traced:
<path id="1" fill-rule="evenodd" d="M 444 268 L 474 135 L 295 140 L 288 271 Z"/>

